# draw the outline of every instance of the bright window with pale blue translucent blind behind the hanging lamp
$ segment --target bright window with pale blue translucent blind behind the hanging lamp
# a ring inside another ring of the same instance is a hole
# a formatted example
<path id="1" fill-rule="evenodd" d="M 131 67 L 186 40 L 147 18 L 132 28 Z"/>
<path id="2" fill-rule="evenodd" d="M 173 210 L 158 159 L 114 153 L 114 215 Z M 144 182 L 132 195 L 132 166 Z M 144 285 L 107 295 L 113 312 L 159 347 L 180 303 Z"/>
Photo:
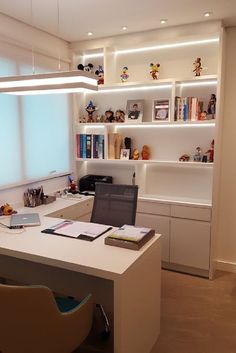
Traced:
<path id="1" fill-rule="evenodd" d="M 0 52 L 0 76 L 27 67 Z M 70 173 L 70 106 L 66 94 L 0 94 L 0 188 Z"/>

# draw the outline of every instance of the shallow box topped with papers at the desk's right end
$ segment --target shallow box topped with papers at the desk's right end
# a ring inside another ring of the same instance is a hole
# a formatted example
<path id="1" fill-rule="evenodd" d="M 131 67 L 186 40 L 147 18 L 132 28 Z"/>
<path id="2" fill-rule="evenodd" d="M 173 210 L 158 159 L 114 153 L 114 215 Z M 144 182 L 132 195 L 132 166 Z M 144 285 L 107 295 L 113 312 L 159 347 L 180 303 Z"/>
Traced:
<path id="1" fill-rule="evenodd" d="M 139 250 L 154 235 L 154 229 L 135 227 L 125 224 L 107 236 L 104 242 L 106 245 Z"/>

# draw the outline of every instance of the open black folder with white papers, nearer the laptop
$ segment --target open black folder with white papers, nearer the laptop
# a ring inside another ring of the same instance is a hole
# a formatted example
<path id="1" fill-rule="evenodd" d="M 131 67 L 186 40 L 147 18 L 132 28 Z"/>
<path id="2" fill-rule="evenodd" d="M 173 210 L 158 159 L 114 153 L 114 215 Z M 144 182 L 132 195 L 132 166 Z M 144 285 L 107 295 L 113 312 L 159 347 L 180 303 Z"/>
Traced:
<path id="1" fill-rule="evenodd" d="M 104 224 L 66 220 L 42 230 L 42 233 L 93 241 L 111 229 Z"/>

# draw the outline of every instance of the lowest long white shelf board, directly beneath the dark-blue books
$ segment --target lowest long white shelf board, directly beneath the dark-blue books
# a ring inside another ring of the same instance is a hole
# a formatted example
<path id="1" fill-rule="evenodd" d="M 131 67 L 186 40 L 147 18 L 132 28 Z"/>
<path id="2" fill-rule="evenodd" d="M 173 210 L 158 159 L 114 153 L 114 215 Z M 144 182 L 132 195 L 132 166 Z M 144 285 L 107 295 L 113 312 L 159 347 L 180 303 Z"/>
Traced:
<path id="1" fill-rule="evenodd" d="M 160 167 L 174 167 L 174 168 L 213 168 L 213 163 L 202 162 L 179 162 L 179 161 L 159 161 L 159 160 L 125 160 L 125 159 L 93 159 L 93 158 L 77 158 L 78 162 L 91 162 L 91 163 L 109 163 L 109 164 L 149 164 L 157 165 Z"/>

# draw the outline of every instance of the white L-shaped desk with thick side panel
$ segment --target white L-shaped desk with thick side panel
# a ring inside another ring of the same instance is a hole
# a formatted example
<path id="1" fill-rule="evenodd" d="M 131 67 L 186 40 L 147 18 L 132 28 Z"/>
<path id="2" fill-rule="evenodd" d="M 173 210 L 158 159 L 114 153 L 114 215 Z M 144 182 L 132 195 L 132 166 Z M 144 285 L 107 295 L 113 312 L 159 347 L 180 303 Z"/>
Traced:
<path id="1" fill-rule="evenodd" d="M 113 313 L 113 352 L 149 353 L 160 332 L 160 236 L 133 251 L 105 245 L 108 233 L 93 242 L 41 233 L 59 222 L 47 214 L 70 205 L 78 201 L 22 208 L 38 212 L 41 226 L 20 234 L 1 228 L 0 277 L 43 284 L 76 298 L 92 293 Z"/>

